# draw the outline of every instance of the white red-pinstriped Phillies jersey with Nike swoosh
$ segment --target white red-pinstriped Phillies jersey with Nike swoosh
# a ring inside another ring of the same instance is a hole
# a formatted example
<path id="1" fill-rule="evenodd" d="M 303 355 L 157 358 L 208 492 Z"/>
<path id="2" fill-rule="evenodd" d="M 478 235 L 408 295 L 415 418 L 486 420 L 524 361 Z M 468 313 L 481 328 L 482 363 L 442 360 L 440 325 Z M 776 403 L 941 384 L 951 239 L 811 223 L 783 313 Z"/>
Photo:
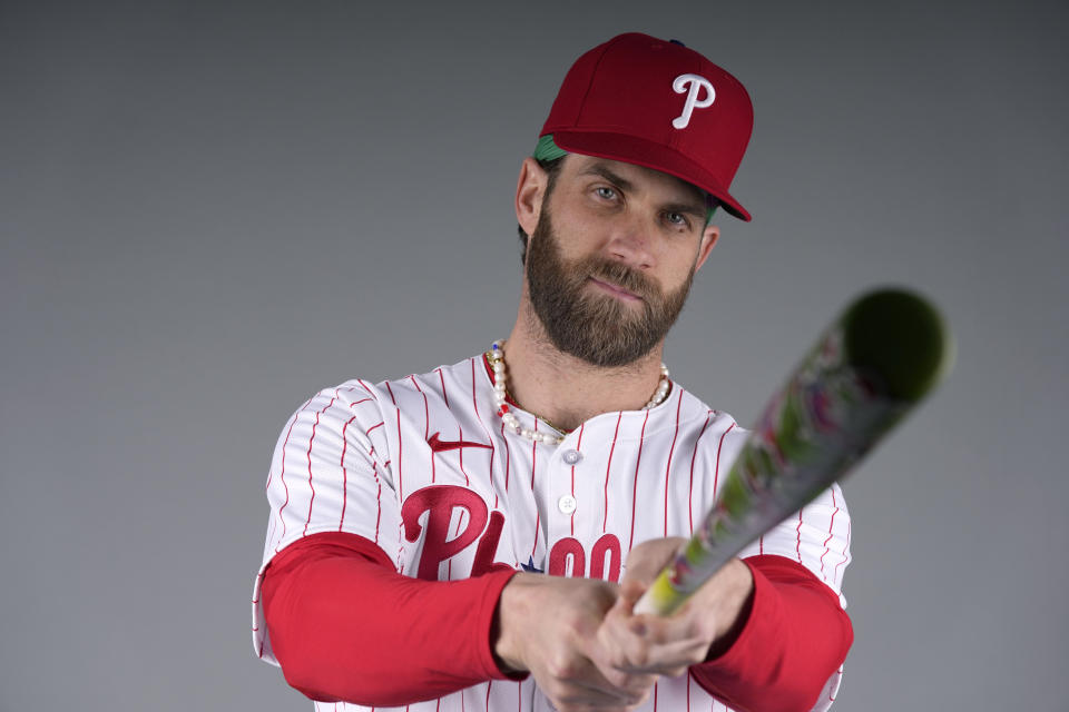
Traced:
<path id="1" fill-rule="evenodd" d="M 507 564 L 618 581 L 631 546 L 689 536 L 745 441 L 730 416 L 678 384 L 649 411 L 605 413 L 560 445 L 507 431 L 482 356 L 372 385 L 327 388 L 283 428 L 267 479 L 263 565 L 317 532 L 351 532 L 410 576 L 465 578 Z M 528 427 L 549 426 L 518 408 Z M 850 516 L 837 485 L 741 556 L 801 562 L 838 596 L 850 562 Z M 277 664 L 253 593 L 256 653 Z M 841 670 L 814 710 L 831 705 Z M 365 711 L 352 703 L 316 710 Z M 376 708 L 383 712 L 383 708 Z M 533 679 L 491 681 L 413 703 L 409 712 L 551 710 Z M 727 710 L 689 676 L 663 678 L 643 710 Z"/>

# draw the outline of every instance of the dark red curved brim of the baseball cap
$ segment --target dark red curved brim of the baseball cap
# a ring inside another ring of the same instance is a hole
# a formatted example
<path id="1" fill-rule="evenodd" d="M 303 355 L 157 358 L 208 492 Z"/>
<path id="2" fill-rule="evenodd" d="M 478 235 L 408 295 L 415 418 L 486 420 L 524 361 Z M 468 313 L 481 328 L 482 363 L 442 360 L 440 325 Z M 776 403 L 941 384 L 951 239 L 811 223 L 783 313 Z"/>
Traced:
<path id="1" fill-rule="evenodd" d="M 566 151 L 585 154 L 645 166 L 693 184 L 716 198 L 724 209 L 741 220 L 749 212 L 732 197 L 713 174 L 663 144 L 607 131 L 553 131 L 553 142 Z"/>

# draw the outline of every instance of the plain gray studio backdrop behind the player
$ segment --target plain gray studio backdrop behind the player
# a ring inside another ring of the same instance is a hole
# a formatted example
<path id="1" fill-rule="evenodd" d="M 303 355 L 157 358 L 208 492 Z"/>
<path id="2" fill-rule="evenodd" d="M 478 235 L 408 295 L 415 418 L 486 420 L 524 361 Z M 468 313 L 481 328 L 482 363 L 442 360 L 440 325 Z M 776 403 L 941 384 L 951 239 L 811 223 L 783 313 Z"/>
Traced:
<path id="1" fill-rule="evenodd" d="M 249 642 L 275 438 L 508 333 L 519 162 L 641 30 L 756 107 L 675 377 L 748 424 L 877 284 L 957 332 L 845 484 L 836 709 L 1069 709 L 1067 6 L 447 4 L 0 3 L 0 708 L 310 709 Z"/>

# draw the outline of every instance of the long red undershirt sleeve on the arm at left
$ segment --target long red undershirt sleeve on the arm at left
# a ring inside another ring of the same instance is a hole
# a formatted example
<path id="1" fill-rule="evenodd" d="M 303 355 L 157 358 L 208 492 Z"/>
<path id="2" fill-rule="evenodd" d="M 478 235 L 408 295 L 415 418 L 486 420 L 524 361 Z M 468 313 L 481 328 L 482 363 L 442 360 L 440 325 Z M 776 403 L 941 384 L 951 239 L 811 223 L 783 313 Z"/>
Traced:
<path id="1" fill-rule="evenodd" d="M 313 534 L 264 574 L 271 644 L 286 681 L 325 702 L 394 706 L 503 680 L 490 631 L 514 573 L 421 581 L 362 536 Z"/>

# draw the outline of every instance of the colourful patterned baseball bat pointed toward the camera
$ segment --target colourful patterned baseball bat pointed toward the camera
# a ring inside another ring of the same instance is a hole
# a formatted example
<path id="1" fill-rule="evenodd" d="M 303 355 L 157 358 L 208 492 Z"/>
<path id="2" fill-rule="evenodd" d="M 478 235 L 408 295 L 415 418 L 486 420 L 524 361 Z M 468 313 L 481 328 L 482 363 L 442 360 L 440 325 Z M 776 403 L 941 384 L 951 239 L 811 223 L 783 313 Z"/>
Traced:
<path id="1" fill-rule="evenodd" d="M 922 296 L 851 303 L 765 406 L 690 541 L 635 605 L 668 615 L 747 544 L 842 478 L 949 372 L 954 345 Z"/>

